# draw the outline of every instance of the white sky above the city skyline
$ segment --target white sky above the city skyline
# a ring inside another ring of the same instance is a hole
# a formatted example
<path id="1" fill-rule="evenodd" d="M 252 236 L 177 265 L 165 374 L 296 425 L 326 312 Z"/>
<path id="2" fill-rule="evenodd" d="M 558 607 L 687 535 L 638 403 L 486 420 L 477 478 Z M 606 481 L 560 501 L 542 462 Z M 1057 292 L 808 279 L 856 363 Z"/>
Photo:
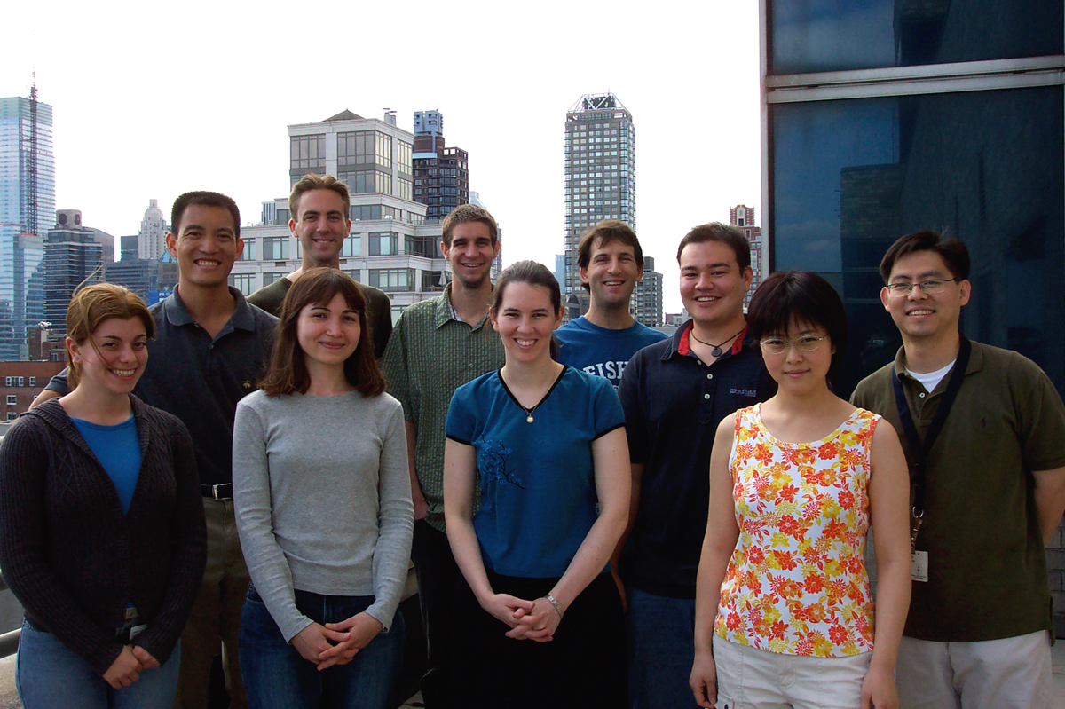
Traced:
<path id="1" fill-rule="evenodd" d="M 231 195 L 243 219 L 288 194 L 288 126 L 344 109 L 438 110 L 504 261 L 554 268 L 562 135 L 584 94 L 636 126 L 637 234 L 681 310 L 676 244 L 728 208 L 761 222 L 758 3 L 19 2 L 4 10 L 0 96 L 54 110 L 58 209 L 134 234 L 148 199 Z M 316 14 L 312 14 L 316 13 Z"/>

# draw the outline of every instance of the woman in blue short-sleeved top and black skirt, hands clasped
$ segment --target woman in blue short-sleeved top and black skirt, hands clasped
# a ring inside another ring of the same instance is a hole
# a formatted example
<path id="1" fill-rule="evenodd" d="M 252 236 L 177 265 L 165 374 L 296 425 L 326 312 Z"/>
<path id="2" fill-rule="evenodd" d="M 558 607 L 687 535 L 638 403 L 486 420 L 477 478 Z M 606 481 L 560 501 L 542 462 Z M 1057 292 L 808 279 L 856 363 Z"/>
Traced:
<path id="1" fill-rule="evenodd" d="M 562 309 L 547 268 L 504 270 L 490 314 L 506 363 L 455 392 L 446 424 L 444 514 L 466 581 L 453 696 L 621 706 L 622 607 L 607 571 L 628 512 L 621 405 L 609 381 L 553 359 Z"/>

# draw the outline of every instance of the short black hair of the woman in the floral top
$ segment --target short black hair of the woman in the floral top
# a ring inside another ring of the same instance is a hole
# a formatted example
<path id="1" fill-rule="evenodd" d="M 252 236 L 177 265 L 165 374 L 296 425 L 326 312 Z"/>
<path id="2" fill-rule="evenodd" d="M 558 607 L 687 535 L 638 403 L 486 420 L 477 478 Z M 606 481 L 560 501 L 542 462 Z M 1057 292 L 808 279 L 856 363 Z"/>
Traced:
<path id="1" fill-rule="evenodd" d="M 829 332 L 836 351 L 829 377 L 835 378 L 847 349 L 847 312 L 836 288 L 809 270 L 779 270 L 751 297 L 747 329 L 752 337 L 787 332 L 792 323 L 816 325 Z"/>

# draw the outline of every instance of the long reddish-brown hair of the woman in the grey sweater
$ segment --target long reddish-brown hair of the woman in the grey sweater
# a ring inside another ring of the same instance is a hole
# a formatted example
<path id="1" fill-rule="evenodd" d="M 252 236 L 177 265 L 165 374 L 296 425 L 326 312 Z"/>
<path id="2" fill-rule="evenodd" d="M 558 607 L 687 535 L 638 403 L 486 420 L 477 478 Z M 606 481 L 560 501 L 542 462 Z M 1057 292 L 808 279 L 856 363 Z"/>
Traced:
<path id="1" fill-rule="evenodd" d="M 260 384 L 267 396 L 307 393 L 311 375 L 307 372 L 304 350 L 299 346 L 299 313 L 307 306 L 329 304 L 338 293 L 344 296 L 348 308 L 359 313 L 359 344 L 344 360 L 344 377 L 363 396 L 377 396 L 384 391 L 384 378 L 374 359 L 374 343 L 366 327 L 366 301 L 362 292 L 347 274 L 320 266 L 300 274 L 281 302 L 281 321 L 277 325 L 274 354 L 266 377 Z"/>

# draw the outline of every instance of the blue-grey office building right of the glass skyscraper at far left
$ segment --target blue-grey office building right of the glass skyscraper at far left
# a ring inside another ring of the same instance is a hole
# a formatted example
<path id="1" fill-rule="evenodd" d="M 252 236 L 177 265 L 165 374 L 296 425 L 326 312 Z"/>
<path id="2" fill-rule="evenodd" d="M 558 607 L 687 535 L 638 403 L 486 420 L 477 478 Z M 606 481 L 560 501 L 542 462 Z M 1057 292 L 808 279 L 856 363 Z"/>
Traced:
<path id="1" fill-rule="evenodd" d="M 103 280 L 103 245 L 98 241 L 102 233 L 82 224 L 80 210 L 60 210 L 55 226 L 45 235 L 43 319 L 55 332 L 66 332 L 70 297 L 82 285 Z"/>

